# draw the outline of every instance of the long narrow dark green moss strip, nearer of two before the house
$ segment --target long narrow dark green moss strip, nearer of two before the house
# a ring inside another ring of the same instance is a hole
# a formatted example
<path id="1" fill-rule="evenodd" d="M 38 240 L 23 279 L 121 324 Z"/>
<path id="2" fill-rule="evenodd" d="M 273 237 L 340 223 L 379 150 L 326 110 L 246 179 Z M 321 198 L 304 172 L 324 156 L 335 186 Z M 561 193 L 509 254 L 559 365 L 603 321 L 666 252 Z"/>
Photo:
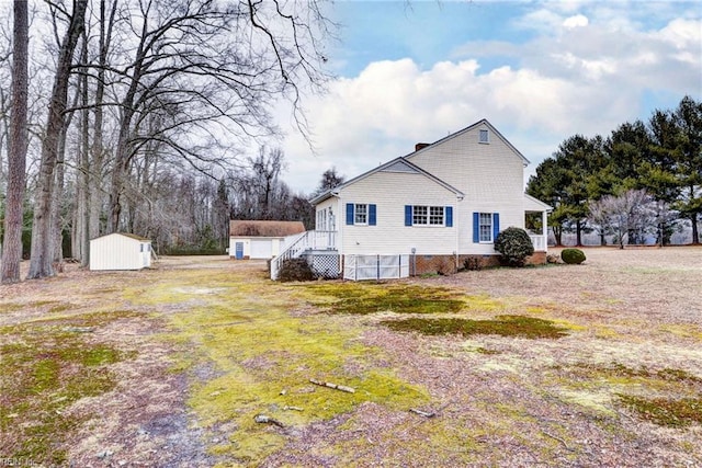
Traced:
<path id="1" fill-rule="evenodd" d="M 524 316 L 498 316 L 491 320 L 471 320 L 463 318 L 409 318 L 404 320 L 384 320 L 382 324 L 396 331 L 416 331 L 422 334 L 497 334 L 528 339 L 558 339 L 567 335 L 566 329 L 553 322 Z"/>

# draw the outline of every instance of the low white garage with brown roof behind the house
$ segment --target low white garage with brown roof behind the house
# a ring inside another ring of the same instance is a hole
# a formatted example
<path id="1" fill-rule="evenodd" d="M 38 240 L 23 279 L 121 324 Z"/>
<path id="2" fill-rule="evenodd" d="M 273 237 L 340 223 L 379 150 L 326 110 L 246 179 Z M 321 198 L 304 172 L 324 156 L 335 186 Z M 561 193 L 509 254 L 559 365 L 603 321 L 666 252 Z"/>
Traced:
<path id="1" fill-rule="evenodd" d="M 229 256 L 237 260 L 272 259 L 285 249 L 286 239 L 305 232 L 299 221 L 229 221 Z"/>

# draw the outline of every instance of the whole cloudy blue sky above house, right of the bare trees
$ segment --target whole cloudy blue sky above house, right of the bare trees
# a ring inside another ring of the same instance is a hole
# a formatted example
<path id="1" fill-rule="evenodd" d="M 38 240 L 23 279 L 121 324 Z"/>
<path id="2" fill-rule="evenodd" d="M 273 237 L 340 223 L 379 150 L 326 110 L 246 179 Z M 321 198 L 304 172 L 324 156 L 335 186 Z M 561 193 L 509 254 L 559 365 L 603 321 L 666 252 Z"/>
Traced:
<path id="1" fill-rule="evenodd" d="M 284 180 L 312 192 L 487 118 L 530 161 L 702 99 L 699 1 L 339 1 L 338 77 L 306 101 L 316 155 L 287 136 Z"/>

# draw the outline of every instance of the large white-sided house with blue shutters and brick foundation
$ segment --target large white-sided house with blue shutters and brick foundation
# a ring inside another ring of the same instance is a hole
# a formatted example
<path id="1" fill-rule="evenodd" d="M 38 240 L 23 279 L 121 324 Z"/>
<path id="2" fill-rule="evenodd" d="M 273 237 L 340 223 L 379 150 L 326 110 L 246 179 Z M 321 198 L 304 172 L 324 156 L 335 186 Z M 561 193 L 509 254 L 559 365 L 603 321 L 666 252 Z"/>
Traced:
<path id="1" fill-rule="evenodd" d="M 533 263 L 545 262 L 551 207 L 524 194 L 529 163 L 489 122 L 479 121 L 433 144 L 374 168 L 312 199 L 316 229 L 290 242 L 283 260 L 338 258 L 338 274 L 355 279 L 452 273 L 468 262 L 496 264 L 500 230 L 526 226 Z M 327 267 L 328 270 L 328 267 Z"/>

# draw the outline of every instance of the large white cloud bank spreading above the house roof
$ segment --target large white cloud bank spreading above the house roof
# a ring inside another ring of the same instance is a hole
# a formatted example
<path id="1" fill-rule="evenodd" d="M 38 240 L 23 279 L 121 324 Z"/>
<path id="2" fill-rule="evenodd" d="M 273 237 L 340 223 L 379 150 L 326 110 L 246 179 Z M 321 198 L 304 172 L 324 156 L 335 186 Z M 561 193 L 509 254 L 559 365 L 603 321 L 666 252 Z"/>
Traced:
<path id="1" fill-rule="evenodd" d="M 596 13 L 542 9 L 522 24 L 551 30 L 524 44 L 475 42 L 457 49 L 463 60 L 429 69 L 411 59 L 377 61 L 332 82 L 328 95 L 307 103 L 318 156 L 290 134 L 285 179 L 309 192 L 332 165 L 352 178 L 483 117 L 533 170 L 574 134 L 607 134 L 647 118 L 641 107 L 648 90 L 702 94 L 702 21 L 676 19 L 645 31 L 611 10 Z M 482 57 L 495 50 L 519 64 L 483 72 Z"/>

